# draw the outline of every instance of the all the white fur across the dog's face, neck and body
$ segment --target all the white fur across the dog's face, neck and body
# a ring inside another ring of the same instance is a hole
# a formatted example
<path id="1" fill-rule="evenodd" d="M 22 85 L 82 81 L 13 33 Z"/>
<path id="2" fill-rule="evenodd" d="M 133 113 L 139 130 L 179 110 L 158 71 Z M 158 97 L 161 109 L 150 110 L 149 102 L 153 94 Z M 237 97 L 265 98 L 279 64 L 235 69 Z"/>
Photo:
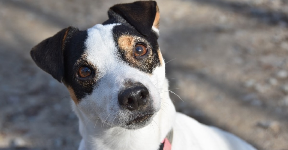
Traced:
<path id="1" fill-rule="evenodd" d="M 88 29 L 85 55 L 99 71 L 100 80 L 91 95 L 79 104 L 72 103 L 83 137 L 79 150 L 158 150 L 171 128 L 173 150 L 254 149 L 230 133 L 176 113 L 168 94 L 163 58 L 162 66 L 156 67 L 152 75 L 128 66 L 116 57 L 118 51 L 112 37 L 114 26 L 117 24 L 98 24 Z M 119 123 L 127 118 L 117 97 L 125 79 L 147 87 L 156 111 L 153 121 L 137 130 L 123 128 Z"/>

